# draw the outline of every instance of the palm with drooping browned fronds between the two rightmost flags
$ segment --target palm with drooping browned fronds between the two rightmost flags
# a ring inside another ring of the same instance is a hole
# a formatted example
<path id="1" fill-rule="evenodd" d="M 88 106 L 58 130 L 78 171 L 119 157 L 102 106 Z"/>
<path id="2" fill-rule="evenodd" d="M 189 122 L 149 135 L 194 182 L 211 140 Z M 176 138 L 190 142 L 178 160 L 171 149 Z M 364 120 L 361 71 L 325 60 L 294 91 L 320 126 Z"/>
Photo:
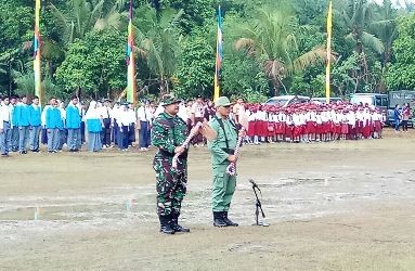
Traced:
<path id="1" fill-rule="evenodd" d="M 294 73 L 326 59 L 324 47 L 317 47 L 300 54 L 297 37 L 307 31 L 308 26 L 300 26 L 290 12 L 261 9 L 252 26 L 242 29 L 243 37 L 235 42 L 236 50 L 245 50 L 249 56 L 256 57 L 263 66 L 265 75 L 271 79 L 275 95 L 283 79 Z"/>

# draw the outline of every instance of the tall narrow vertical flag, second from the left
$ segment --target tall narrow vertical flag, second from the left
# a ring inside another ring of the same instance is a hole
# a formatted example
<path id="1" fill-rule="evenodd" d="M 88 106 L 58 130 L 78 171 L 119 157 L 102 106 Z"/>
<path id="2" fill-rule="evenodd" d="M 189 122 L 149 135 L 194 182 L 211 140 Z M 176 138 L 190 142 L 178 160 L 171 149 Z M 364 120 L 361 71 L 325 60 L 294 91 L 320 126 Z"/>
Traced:
<path id="1" fill-rule="evenodd" d="M 132 34 L 132 1 L 130 0 L 128 43 L 127 43 L 127 102 L 137 104 L 134 36 Z"/>

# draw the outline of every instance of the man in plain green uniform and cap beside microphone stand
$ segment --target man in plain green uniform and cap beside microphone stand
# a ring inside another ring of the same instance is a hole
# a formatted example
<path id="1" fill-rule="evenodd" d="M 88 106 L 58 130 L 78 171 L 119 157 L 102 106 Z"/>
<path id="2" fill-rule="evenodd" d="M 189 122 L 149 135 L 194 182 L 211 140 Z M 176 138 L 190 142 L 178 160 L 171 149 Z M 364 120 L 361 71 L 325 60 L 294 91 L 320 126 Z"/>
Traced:
<path id="1" fill-rule="evenodd" d="M 216 116 L 209 121 L 209 126 L 217 132 L 218 137 L 208 142 L 211 154 L 213 189 L 212 210 L 215 227 L 236 227 L 228 218 L 228 211 L 236 186 L 236 176 L 228 175 L 226 167 L 236 162 L 234 150 L 237 144 L 238 131 L 235 124 L 229 118 L 232 103 L 226 96 L 219 98 L 215 107 Z"/>

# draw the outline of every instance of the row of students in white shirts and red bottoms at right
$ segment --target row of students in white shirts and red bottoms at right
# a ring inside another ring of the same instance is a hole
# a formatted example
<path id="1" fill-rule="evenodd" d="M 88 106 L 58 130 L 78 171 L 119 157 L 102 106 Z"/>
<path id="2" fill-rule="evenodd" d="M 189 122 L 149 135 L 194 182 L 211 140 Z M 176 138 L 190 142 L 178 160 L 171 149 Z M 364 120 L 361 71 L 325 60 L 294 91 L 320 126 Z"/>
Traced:
<path id="1" fill-rule="evenodd" d="M 250 105 L 245 114 L 251 144 L 379 139 L 386 118 L 379 109 L 351 105 Z"/>

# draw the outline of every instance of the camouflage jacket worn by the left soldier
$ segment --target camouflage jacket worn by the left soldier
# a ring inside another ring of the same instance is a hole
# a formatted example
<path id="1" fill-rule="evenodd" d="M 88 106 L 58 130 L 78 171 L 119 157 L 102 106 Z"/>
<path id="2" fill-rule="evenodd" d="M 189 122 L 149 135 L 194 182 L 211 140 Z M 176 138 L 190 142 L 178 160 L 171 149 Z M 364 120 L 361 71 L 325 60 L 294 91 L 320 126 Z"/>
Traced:
<path id="1" fill-rule="evenodd" d="M 187 126 L 179 116 L 161 113 L 152 127 L 152 144 L 158 147 L 155 160 L 171 162 L 176 146 L 180 146 L 187 138 Z M 181 155 L 179 164 L 186 159 L 187 153 Z"/>

